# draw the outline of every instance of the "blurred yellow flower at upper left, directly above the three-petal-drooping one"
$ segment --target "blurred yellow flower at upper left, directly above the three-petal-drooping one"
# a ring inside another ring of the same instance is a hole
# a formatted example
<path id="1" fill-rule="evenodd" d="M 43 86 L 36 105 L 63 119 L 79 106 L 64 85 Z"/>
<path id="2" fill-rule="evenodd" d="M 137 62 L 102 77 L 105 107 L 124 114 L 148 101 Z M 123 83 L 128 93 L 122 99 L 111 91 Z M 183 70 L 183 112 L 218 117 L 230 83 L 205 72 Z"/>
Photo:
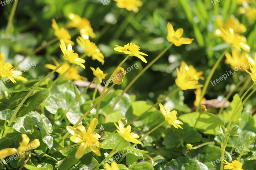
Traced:
<path id="1" fill-rule="evenodd" d="M 89 39 L 89 37 L 96 37 L 96 35 L 93 33 L 93 29 L 89 20 L 81 18 L 79 15 L 73 13 L 69 13 L 68 18 L 71 20 L 71 22 L 69 22 L 67 25 L 68 28 L 78 28 L 80 30 L 81 36 L 85 39 Z"/>

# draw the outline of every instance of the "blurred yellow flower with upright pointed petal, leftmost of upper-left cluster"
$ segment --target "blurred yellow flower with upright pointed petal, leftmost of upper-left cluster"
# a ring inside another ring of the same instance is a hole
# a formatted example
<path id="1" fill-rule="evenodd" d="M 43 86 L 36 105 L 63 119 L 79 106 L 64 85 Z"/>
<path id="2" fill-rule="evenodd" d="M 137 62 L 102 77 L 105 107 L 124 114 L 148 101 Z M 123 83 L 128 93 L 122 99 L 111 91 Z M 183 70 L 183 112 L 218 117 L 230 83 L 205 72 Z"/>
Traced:
<path id="1" fill-rule="evenodd" d="M 59 28 L 58 24 L 56 23 L 55 19 L 52 19 L 52 27 L 54 28 L 54 35 L 59 39 L 63 40 L 66 44 L 75 45 L 73 41 L 71 41 L 71 35 L 68 33 L 68 30 L 61 27 Z"/>

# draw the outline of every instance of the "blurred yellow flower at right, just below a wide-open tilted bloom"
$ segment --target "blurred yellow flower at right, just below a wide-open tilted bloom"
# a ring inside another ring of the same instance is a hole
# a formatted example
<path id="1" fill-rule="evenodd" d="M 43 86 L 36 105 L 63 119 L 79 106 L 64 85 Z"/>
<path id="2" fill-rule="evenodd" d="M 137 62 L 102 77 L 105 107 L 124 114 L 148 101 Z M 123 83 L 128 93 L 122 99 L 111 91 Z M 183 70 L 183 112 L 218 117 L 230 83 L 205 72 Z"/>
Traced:
<path id="1" fill-rule="evenodd" d="M 226 52 L 225 55 L 226 55 L 225 63 L 230 64 L 233 70 L 235 70 L 236 67 L 238 68 L 238 66 L 239 66 L 239 70 L 241 71 L 244 71 L 244 69 L 249 69 L 249 63 L 247 61 L 247 56 L 249 56 L 248 53 L 243 53 L 241 55 L 241 52 L 234 48 L 232 50 L 232 56 L 228 52 Z"/>

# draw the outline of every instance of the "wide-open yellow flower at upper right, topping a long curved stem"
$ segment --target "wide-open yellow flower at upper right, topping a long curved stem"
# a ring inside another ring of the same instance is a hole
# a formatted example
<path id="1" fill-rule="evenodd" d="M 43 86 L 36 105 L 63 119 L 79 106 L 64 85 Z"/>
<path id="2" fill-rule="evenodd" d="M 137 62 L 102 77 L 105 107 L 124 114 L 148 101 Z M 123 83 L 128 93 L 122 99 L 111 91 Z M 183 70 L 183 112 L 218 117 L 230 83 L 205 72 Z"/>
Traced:
<path id="1" fill-rule="evenodd" d="M 250 46 L 247 44 L 246 38 L 244 36 L 240 36 L 239 34 L 234 33 L 232 28 L 227 30 L 221 29 L 221 37 L 228 44 L 233 45 L 237 50 L 241 51 L 241 48 L 247 52 L 250 52 Z"/>

